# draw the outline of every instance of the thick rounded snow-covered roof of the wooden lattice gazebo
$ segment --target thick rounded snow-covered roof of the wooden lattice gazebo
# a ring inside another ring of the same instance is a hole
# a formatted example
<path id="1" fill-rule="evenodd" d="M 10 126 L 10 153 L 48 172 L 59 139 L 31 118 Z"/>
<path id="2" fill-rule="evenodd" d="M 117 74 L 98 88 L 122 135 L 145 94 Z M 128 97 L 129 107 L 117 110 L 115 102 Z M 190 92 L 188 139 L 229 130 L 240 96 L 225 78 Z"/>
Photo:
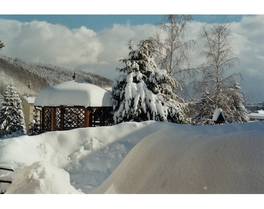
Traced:
<path id="1" fill-rule="evenodd" d="M 112 106 L 111 94 L 105 89 L 81 81 L 67 81 L 41 90 L 35 106 Z"/>

